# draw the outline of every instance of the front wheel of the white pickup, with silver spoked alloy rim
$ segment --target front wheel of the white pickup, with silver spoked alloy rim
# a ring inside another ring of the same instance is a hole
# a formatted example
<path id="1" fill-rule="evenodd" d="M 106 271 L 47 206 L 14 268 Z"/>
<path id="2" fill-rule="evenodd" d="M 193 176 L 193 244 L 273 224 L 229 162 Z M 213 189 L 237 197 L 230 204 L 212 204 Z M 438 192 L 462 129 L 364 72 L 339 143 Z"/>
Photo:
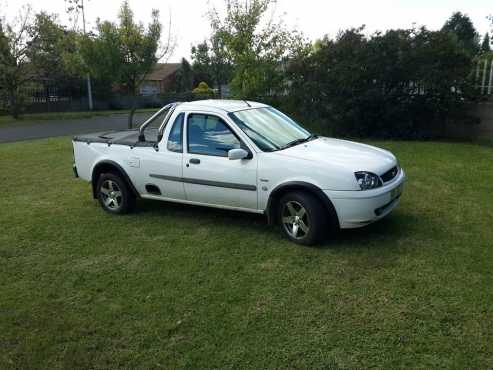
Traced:
<path id="1" fill-rule="evenodd" d="M 330 224 L 330 217 L 321 201 L 307 192 L 287 193 L 279 202 L 278 221 L 281 231 L 297 244 L 314 245 L 322 241 L 327 225 Z M 288 219 L 290 222 L 287 222 Z"/>

